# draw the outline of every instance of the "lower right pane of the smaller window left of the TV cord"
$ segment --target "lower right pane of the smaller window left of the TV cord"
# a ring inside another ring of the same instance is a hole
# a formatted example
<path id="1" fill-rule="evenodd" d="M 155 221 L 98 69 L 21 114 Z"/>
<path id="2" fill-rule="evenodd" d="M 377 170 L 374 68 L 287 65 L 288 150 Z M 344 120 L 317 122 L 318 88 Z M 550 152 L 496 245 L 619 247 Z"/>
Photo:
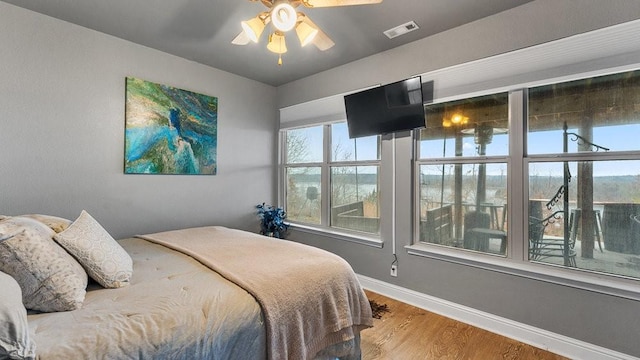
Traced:
<path id="1" fill-rule="evenodd" d="M 331 168 L 331 226 L 380 232 L 378 166 Z"/>

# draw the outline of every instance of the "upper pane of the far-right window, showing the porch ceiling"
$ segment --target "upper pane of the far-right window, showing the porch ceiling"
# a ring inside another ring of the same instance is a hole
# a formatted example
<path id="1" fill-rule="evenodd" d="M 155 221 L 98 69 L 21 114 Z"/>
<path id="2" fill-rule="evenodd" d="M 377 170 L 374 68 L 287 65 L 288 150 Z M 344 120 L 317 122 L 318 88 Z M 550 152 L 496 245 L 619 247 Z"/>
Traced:
<path id="1" fill-rule="evenodd" d="M 612 151 L 640 150 L 640 71 L 600 76 L 529 90 L 528 153 L 592 151 L 588 142 Z"/>

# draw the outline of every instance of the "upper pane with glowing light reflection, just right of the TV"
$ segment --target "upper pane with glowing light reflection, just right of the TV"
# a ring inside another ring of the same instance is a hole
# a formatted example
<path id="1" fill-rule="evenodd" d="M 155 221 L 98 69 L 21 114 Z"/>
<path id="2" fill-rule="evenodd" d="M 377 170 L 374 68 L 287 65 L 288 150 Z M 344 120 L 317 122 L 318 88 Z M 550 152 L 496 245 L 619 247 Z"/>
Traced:
<path id="1" fill-rule="evenodd" d="M 501 93 L 426 106 L 420 158 L 508 154 L 508 103 Z"/>

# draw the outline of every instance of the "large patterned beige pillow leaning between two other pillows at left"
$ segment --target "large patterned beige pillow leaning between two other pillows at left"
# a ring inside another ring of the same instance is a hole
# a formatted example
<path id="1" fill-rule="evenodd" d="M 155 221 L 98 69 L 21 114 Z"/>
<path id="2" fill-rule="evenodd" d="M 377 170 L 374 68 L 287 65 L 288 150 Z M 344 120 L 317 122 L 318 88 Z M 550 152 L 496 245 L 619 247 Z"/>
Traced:
<path id="1" fill-rule="evenodd" d="M 14 216 L 0 221 L 0 271 L 20 284 L 27 309 L 51 312 L 82 306 L 87 274 L 45 224 Z"/>

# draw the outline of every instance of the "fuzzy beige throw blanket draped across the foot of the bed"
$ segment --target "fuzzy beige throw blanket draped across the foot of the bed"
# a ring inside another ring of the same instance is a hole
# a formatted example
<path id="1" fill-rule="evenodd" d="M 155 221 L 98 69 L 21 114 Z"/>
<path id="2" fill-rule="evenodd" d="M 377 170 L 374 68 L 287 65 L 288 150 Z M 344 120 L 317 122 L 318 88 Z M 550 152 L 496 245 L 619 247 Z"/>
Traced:
<path id="1" fill-rule="evenodd" d="M 139 237 L 192 256 L 252 294 L 269 359 L 312 359 L 373 325 L 351 266 L 330 252 L 218 226 Z"/>

